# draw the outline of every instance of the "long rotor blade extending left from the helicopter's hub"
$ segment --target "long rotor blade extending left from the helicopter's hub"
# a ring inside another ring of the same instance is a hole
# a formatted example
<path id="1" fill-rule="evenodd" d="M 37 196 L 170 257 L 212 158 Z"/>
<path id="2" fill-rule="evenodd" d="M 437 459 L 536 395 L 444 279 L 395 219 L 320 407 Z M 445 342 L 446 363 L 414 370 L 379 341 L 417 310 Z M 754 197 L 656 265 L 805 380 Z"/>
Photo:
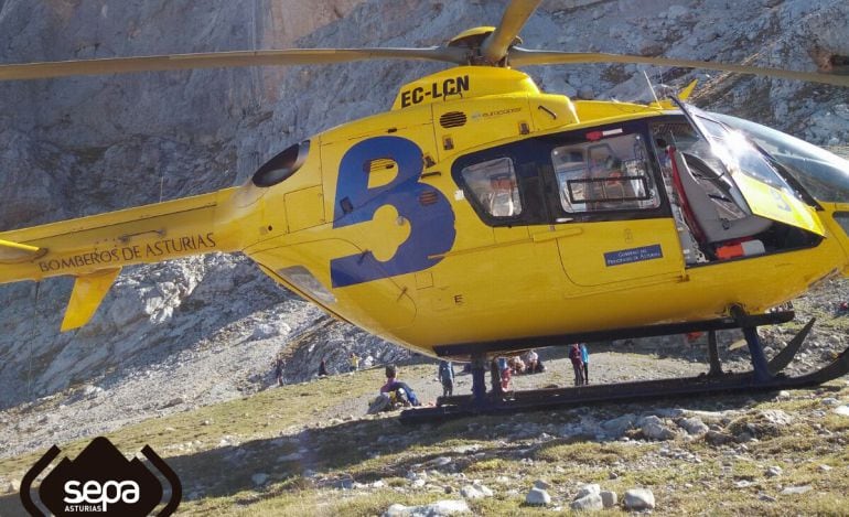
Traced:
<path id="1" fill-rule="evenodd" d="M 462 49 L 444 46 L 211 52 L 0 65 L 0 80 L 234 66 L 323 65 L 363 60 L 430 60 L 465 64 L 468 56 Z"/>

